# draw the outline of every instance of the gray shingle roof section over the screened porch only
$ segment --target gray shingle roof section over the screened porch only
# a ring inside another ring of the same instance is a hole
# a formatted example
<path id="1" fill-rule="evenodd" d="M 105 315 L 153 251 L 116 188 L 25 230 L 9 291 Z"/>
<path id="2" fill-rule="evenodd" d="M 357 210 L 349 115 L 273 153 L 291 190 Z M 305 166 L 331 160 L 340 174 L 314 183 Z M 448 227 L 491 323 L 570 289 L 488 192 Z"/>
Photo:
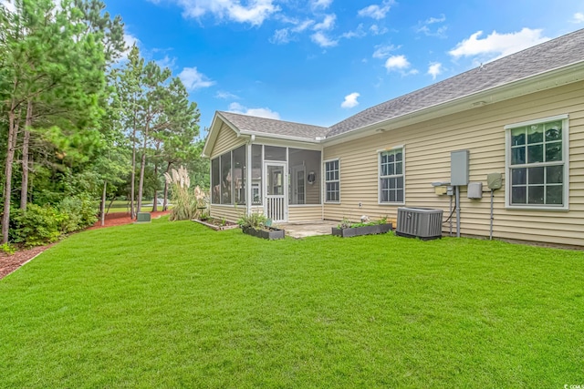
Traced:
<path id="1" fill-rule="evenodd" d="M 312 126 L 309 124 L 294 123 L 290 121 L 276 120 L 272 118 L 257 118 L 248 115 L 235 114 L 233 112 L 219 112 L 241 131 L 262 132 L 266 135 L 283 135 L 315 140 L 324 138 L 328 128 Z"/>

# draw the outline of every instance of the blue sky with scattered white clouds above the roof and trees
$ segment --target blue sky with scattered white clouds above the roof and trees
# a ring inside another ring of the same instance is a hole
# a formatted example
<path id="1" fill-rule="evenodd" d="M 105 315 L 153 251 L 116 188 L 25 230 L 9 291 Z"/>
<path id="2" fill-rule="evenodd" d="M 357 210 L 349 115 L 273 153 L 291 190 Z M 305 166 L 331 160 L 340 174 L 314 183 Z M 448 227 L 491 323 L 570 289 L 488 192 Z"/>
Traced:
<path id="1" fill-rule="evenodd" d="M 584 28 L 584 1 L 106 0 L 201 110 L 328 127 Z M 202 134 L 204 135 L 204 134 Z"/>

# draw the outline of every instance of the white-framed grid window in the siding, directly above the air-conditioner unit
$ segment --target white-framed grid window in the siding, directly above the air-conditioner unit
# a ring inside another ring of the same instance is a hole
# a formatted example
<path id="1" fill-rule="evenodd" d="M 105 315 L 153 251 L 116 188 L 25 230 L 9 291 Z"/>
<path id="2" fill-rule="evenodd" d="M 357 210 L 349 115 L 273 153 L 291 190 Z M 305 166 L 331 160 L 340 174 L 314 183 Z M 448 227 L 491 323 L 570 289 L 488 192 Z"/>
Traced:
<path id="1" fill-rule="evenodd" d="M 380 203 L 403 204 L 403 148 L 381 151 Z"/>

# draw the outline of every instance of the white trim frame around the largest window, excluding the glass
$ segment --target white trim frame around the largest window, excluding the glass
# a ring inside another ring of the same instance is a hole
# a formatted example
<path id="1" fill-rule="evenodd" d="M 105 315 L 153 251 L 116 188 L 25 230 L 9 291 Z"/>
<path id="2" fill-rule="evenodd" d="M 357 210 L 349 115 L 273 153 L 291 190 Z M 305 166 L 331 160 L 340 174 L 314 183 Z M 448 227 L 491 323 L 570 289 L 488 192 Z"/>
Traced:
<path id="1" fill-rule="evenodd" d="M 505 208 L 507 210 L 569 210 L 569 115 L 557 115 L 547 118 L 537 118 L 505 126 Z M 564 162 L 564 182 L 563 182 L 563 204 L 561 206 L 552 205 L 512 205 L 511 204 L 511 130 L 513 128 L 530 126 L 532 124 L 545 123 L 549 121 L 562 120 L 562 160 Z"/>

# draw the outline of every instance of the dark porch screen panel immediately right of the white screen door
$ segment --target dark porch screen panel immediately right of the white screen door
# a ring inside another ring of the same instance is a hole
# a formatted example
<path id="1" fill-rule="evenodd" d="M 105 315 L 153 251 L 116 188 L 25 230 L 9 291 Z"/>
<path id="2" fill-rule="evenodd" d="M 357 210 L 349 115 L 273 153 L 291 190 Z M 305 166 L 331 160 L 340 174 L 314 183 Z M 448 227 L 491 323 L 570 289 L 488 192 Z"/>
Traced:
<path id="1" fill-rule="evenodd" d="M 320 204 L 320 151 L 288 148 L 288 170 L 289 204 Z"/>

